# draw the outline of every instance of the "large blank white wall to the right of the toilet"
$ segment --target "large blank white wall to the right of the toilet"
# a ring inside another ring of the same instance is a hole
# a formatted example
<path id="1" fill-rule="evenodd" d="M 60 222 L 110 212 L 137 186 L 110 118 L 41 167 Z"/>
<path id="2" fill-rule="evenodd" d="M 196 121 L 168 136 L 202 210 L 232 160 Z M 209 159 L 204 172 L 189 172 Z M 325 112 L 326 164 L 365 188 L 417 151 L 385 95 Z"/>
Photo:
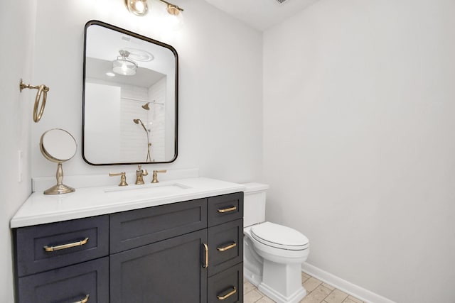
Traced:
<path id="1" fill-rule="evenodd" d="M 264 33 L 267 219 L 400 303 L 455 302 L 454 16 L 321 0 Z"/>

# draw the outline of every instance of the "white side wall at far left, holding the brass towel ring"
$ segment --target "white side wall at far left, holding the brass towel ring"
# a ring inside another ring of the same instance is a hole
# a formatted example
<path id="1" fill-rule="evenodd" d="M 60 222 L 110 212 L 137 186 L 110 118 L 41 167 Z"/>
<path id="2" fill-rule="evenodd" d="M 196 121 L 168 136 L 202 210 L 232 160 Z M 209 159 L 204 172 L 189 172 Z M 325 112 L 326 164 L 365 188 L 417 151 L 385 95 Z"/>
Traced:
<path id="1" fill-rule="evenodd" d="M 25 3 L 26 2 L 26 3 Z M 19 92 L 19 81 L 33 82 L 35 1 L 0 2 L 0 301 L 14 302 L 9 221 L 31 192 L 30 129 L 36 90 Z M 11 35 L 17 33 L 17 35 Z M 33 123 L 35 124 L 35 123 Z M 18 182 L 18 150 L 23 151 Z"/>

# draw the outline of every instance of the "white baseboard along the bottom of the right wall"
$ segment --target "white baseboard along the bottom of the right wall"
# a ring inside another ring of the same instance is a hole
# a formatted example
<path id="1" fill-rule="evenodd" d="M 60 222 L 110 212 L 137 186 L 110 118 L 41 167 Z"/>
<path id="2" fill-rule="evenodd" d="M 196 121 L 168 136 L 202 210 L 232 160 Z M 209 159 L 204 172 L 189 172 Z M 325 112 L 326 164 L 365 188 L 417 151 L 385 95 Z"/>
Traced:
<path id="1" fill-rule="evenodd" d="M 311 265 L 309 263 L 303 263 L 301 265 L 301 270 L 306 272 L 307 274 L 311 275 L 312 277 L 316 277 L 327 284 L 332 285 L 333 287 L 338 288 L 346 294 L 350 294 L 353 297 L 361 299 L 367 303 L 396 303 L 390 299 L 380 296 L 375 292 L 370 292 L 370 290 L 365 290 L 358 285 L 355 285 L 351 282 L 341 279 L 341 277 L 337 277 L 336 275 L 332 275 L 329 272 L 321 270 L 320 268 L 316 268 L 316 266 Z"/>

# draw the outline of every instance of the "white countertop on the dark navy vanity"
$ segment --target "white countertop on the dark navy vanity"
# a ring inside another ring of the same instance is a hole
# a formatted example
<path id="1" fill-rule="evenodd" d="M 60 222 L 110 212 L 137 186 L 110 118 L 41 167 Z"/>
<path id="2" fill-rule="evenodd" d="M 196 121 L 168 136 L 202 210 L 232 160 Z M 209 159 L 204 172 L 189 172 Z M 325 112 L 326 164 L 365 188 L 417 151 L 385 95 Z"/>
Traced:
<path id="1" fill-rule="evenodd" d="M 167 189 L 171 187 L 175 187 L 176 190 Z M 17 228 L 112 214 L 119 211 L 242 192 L 244 189 L 243 184 L 193 177 L 127 187 L 77 188 L 70 194 L 33 192 L 11 219 L 10 226 Z"/>

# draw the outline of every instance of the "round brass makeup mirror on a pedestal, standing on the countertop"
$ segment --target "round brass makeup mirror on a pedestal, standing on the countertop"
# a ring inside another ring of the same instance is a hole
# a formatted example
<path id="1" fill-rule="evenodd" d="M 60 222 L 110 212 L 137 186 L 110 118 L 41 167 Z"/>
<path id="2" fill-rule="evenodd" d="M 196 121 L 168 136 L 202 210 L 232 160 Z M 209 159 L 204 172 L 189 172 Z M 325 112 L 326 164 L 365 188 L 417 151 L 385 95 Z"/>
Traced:
<path id="1" fill-rule="evenodd" d="M 44 194 L 68 194 L 73 187 L 63 184 L 62 163 L 74 157 L 77 150 L 75 138 L 68 131 L 53 128 L 41 135 L 40 149 L 44 158 L 58 163 L 55 177 L 57 184 L 44 191 Z"/>

